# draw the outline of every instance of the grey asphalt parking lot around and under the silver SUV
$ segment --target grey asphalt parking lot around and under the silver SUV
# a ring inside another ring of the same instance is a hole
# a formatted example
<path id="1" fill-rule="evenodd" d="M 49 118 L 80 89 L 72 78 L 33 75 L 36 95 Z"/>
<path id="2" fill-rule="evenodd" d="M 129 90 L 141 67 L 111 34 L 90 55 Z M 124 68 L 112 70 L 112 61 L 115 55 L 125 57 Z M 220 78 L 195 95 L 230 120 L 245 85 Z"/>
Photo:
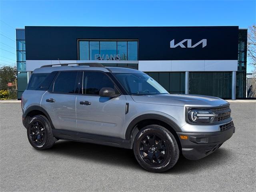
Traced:
<path id="1" fill-rule="evenodd" d="M 231 109 L 236 133 L 220 149 L 156 174 L 143 170 L 132 150 L 70 141 L 35 150 L 20 103 L 0 103 L 0 191 L 255 191 L 256 103 Z"/>

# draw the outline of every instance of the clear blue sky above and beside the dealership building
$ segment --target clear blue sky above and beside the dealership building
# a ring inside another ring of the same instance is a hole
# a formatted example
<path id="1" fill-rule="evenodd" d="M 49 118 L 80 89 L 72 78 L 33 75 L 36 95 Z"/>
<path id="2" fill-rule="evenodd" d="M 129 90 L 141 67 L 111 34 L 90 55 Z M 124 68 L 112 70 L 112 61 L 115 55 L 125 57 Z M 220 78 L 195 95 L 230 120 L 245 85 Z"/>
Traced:
<path id="1" fill-rule="evenodd" d="M 24 26 L 248 28 L 253 24 L 256 0 L 0 0 L 0 66 L 16 65 L 15 28 Z"/>

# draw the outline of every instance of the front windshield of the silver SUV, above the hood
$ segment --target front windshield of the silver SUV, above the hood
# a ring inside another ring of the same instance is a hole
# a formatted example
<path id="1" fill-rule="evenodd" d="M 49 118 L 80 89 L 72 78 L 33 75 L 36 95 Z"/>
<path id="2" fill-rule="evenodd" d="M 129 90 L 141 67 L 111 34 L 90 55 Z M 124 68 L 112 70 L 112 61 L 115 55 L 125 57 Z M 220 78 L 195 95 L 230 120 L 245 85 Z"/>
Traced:
<path id="1" fill-rule="evenodd" d="M 113 73 L 131 95 L 169 94 L 158 82 L 144 73 Z"/>

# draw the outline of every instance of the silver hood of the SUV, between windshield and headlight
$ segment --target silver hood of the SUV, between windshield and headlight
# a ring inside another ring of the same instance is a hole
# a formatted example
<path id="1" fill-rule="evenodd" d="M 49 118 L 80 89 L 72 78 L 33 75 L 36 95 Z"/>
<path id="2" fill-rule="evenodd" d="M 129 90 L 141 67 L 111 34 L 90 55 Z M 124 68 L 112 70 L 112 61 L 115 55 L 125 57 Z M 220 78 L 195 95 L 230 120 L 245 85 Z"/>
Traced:
<path id="1" fill-rule="evenodd" d="M 205 106 L 215 107 L 228 104 L 223 99 L 212 96 L 193 95 L 193 94 L 160 94 L 160 95 L 140 95 L 132 98 L 138 103 L 175 105 L 175 106 Z"/>

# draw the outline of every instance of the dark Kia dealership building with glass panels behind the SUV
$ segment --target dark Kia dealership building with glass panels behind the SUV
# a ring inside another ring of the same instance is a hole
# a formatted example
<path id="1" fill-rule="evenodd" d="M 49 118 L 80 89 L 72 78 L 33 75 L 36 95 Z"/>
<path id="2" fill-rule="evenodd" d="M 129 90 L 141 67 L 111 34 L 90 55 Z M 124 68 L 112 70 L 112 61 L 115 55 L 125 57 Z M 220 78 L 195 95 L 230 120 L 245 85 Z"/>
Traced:
<path id="1" fill-rule="evenodd" d="M 16 29 L 18 99 L 34 69 L 65 63 L 136 68 L 173 94 L 246 97 L 247 29 L 25 26 Z"/>

